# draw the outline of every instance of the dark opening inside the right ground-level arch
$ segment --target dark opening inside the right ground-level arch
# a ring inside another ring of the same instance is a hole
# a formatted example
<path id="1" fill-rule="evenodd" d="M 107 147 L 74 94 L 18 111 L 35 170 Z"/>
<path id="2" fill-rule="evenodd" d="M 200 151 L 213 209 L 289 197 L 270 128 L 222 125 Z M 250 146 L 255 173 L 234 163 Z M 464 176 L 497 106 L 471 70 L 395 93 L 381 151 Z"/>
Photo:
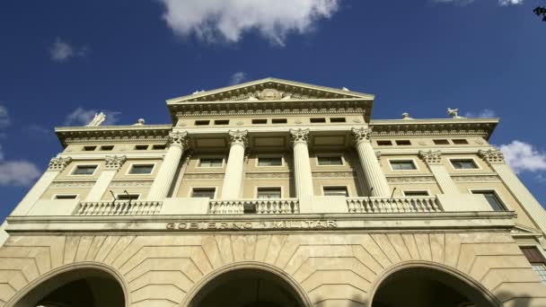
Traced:
<path id="1" fill-rule="evenodd" d="M 372 307 L 496 307 L 480 289 L 435 268 L 402 268 L 376 289 Z"/>

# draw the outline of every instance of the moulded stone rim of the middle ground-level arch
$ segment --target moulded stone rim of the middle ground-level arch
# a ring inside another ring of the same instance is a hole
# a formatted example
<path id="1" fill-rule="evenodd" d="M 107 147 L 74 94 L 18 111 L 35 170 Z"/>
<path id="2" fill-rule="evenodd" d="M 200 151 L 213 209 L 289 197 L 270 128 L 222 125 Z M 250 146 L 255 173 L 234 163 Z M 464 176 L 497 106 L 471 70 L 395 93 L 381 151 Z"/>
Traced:
<path id="1" fill-rule="evenodd" d="M 271 274 L 272 276 L 276 276 L 279 281 L 282 281 L 286 284 L 286 286 L 290 287 L 290 289 L 294 291 L 294 294 L 297 300 L 301 303 L 302 307 L 313 305 L 313 303 L 311 303 L 311 300 L 307 296 L 304 288 L 299 285 L 292 276 L 290 276 L 282 269 L 263 262 L 244 261 L 232 263 L 222 268 L 218 268 L 213 272 L 209 273 L 207 276 L 203 277 L 196 285 L 194 285 L 190 289 L 188 294 L 185 296 L 185 299 L 182 301 L 181 306 L 195 307 L 192 302 L 194 302 L 194 299 L 201 291 L 203 291 L 207 287 L 207 285 L 210 285 L 211 282 L 214 282 L 218 277 L 225 276 L 226 274 L 240 270 L 258 270 L 264 273 Z"/>

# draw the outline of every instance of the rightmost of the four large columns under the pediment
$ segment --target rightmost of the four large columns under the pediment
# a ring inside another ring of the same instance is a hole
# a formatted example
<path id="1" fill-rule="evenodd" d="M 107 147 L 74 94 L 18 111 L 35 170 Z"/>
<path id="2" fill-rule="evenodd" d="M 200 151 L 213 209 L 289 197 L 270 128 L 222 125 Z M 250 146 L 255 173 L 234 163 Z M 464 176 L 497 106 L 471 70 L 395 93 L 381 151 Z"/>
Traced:
<path id="1" fill-rule="evenodd" d="M 366 188 L 372 190 L 372 196 L 374 197 L 390 197 L 389 184 L 381 169 L 381 165 L 377 161 L 374 147 L 372 147 L 372 129 L 359 127 L 353 128 L 351 132 L 355 138 L 358 158 L 360 159 L 362 171 L 364 171 Z"/>

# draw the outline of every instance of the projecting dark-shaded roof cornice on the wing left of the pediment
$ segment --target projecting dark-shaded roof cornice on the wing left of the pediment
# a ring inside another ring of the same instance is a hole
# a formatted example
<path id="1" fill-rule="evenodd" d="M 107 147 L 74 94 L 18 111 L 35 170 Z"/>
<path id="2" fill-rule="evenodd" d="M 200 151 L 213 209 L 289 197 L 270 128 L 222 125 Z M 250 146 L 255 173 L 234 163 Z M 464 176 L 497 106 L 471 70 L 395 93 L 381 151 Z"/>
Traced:
<path id="1" fill-rule="evenodd" d="M 61 144 L 166 142 L 172 125 L 56 127 Z"/>

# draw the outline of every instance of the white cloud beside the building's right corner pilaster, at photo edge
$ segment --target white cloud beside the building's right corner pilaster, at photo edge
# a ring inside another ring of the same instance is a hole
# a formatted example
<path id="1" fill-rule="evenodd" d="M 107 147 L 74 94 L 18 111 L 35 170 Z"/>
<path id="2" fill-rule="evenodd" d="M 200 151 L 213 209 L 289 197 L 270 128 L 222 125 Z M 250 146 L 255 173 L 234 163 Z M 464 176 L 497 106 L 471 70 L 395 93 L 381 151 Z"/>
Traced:
<path id="1" fill-rule="evenodd" d="M 505 160 L 516 173 L 522 171 L 546 171 L 546 153 L 540 152 L 533 145 L 512 141 L 507 145 L 499 146 L 505 154 Z"/>

